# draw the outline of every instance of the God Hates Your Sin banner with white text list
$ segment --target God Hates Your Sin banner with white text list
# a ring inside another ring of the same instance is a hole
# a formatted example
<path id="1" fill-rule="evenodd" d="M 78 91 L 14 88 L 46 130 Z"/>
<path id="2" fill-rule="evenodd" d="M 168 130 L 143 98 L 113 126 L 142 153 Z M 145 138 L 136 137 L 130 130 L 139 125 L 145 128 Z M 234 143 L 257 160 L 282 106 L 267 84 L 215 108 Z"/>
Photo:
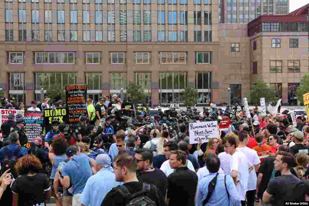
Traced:
<path id="1" fill-rule="evenodd" d="M 25 111 L 24 123 L 24 131 L 28 136 L 27 147 L 30 147 L 33 139 L 43 134 L 44 112 Z"/>

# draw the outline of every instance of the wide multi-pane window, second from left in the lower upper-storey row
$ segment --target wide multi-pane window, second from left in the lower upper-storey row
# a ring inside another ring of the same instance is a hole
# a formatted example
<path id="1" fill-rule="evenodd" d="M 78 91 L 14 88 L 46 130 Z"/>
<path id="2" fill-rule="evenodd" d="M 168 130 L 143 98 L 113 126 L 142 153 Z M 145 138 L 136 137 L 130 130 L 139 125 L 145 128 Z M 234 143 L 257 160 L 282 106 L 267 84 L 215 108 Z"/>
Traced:
<path id="1" fill-rule="evenodd" d="M 75 64 L 75 53 L 35 53 L 34 64 Z"/>

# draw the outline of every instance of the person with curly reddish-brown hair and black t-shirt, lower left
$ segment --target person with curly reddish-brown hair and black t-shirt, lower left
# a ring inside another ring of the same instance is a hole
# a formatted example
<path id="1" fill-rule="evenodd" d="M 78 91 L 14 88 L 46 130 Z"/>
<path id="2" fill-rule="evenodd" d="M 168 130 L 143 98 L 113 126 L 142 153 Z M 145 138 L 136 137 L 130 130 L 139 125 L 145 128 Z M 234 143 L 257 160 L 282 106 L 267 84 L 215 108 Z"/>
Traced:
<path id="1" fill-rule="evenodd" d="M 33 154 L 19 158 L 15 164 L 15 171 L 20 176 L 15 179 L 11 187 L 13 206 L 46 206 L 51 190 L 48 177 L 40 173 L 42 169 L 43 165 Z"/>

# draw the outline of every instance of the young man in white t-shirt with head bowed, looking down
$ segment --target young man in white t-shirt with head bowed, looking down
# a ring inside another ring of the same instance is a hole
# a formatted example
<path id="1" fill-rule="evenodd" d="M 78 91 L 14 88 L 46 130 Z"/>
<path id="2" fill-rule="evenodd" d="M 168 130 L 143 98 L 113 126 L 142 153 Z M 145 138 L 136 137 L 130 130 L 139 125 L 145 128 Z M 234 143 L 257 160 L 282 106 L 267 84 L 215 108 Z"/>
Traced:
<path id="1" fill-rule="evenodd" d="M 224 151 L 232 155 L 231 158 L 231 177 L 234 180 L 236 190 L 241 200 L 241 205 L 246 205 L 246 192 L 248 190 L 249 168 L 251 164 L 248 162 L 246 155 L 236 150 L 237 139 L 232 136 L 225 136 L 222 144 Z"/>

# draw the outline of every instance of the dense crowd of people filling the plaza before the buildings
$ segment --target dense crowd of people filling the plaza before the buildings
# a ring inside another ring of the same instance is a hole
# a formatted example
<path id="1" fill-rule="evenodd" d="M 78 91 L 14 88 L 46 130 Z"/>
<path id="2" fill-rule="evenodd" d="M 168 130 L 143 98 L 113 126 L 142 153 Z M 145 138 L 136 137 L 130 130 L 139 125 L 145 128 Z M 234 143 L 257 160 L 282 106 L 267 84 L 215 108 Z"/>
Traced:
<path id="1" fill-rule="evenodd" d="M 51 196 L 57 206 L 309 201 L 305 116 L 297 118 L 295 127 L 290 116 L 262 116 L 255 107 L 250 119 L 236 108 L 231 120 L 231 110 L 213 103 L 192 119 L 162 111 L 152 118 L 129 98 L 122 101 L 113 95 L 107 101 L 103 96 L 93 105 L 88 98 L 88 116 L 80 116 L 73 126 L 53 120 L 51 130 L 27 149 L 23 117 L 9 116 L 1 126 L 5 139 L 0 149 L 0 202 L 44 206 Z M 122 118 L 134 112 L 136 124 Z M 188 123 L 210 119 L 231 124 L 208 142 L 190 144 Z"/>

